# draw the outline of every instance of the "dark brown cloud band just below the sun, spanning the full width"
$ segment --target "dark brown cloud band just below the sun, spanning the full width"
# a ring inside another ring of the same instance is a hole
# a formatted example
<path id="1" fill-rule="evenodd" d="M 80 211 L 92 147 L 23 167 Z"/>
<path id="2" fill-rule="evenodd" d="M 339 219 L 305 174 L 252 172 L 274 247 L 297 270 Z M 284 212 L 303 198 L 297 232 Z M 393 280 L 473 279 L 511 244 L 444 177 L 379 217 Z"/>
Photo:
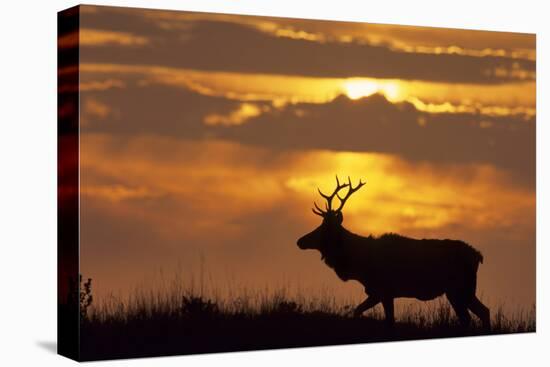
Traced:
<path id="1" fill-rule="evenodd" d="M 535 120 L 480 114 L 429 114 L 381 95 L 341 96 L 326 104 L 270 108 L 239 126 L 206 126 L 210 113 L 227 114 L 240 102 L 164 86 L 88 92 L 111 106 L 105 121 L 84 116 L 83 132 L 219 138 L 276 150 L 325 149 L 396 154 L 412 161 L 487 163 L 535 182 Z M 154 103 L 152 102 L 154 101 Z M 265 104 L 267 106 L 267 104 Z M 117 117 L 118 116 L 118 117 Z"/>

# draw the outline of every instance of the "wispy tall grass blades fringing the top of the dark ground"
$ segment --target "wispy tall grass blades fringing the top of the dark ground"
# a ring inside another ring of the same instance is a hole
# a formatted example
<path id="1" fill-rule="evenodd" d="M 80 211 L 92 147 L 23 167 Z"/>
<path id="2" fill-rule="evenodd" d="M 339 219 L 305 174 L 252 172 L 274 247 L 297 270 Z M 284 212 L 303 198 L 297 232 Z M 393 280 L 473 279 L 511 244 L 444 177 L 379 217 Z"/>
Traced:
<path id="1" fill-rule="evenodd" d="M 201 272 L 202 274 L 202 272 Z M 87 322 L 130 321 L 134 319 L 152 319 L 158 316 L 180 317 L 182 314 L 201 314 L 258 317 L 274 313 L 284 314 L 323 314 L 339 318 L 351 318 L 357 299 L 342 299 L 333 295 L 330 289 L 316 292 L 290 284 L 263 288 L 237 287 L 230 284 L 225 289 L 206 282 L 204 276 L 199 281 L 190 276 L 184 279 L 176 274 L 170 280 L 160 282 L 156 288 L 136 287 L 128 296 L 110 294 L 96 300 L 82 315 Z M 90 281 L 86 292 L 90 295 Z M 536 328 L 536 309 L 517 308 L 506 314 L 504 305 L 492 310 L 492 329 L 498 332 L 529 332 Z M 382 307 L 367 311 L 364 315 L 373 320 L 383 320 Z M 396 306 L 397 321 L 415 325 L 419 328 L 458 327 L 454 311 L 445 298 L 431 302 Z M 473 317 L 473 325 L 479 322 Z"/>

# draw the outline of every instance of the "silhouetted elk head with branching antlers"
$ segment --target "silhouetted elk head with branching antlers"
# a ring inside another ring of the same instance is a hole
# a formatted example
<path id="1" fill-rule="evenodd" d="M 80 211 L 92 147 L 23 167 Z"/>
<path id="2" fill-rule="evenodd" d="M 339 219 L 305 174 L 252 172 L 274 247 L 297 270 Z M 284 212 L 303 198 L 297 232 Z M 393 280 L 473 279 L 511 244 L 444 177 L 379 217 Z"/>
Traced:
<path id="1" fill-rule="evenodd" d="M 336 189 L 331 195 L 325 195 L 319 191 L 319 194 L 326 200 L 325 210 L 322 210 L 317 206 L 317 203 L 313 203 L 315 206 L 312 211 L 318 216 L 323 218 L 323 222 L 319 227 L 317 227 L 312 232 L 306 234 L 298 240 L 298 247 L 302 250 L 315 249 L 321 250 L 326 249 L 328 246 L 340 242 L 340 235 L 342 233 L 342 222 L 344 221 L 344 216 L 342 215 L 342 209 L 346 200 L 357 190 L 359 190 L 365 183 L 359 180 L 359 184 L 353 187 L 351 184 L 351 179 L 348 176 L 348 182 L 340 184 L 338 176 L 336 176 Z M 347 188 L 348 191 L 344 197 L 340 197 L 338 194 L 342 189 Z M 340 205 L 338 208 L 333 208 L 333 199 L 338 197 Z"/>

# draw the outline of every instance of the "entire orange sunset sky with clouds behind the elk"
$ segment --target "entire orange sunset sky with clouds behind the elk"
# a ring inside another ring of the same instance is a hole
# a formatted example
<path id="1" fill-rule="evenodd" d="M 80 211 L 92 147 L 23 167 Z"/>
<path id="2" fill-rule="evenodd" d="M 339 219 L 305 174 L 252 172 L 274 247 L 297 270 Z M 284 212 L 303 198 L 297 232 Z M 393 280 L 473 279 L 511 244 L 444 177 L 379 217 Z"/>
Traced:
<path id="1" fill-rule="evenodd" d="M 464 240 L 482 299 L 534 303 L 534 35 L 80 9 L 60 45 L 81 47 L 81 273 L 100 297 L 200 269 L 361 297 L 296 246 L 338 174 L 367 182 L 349 230 Z"/>

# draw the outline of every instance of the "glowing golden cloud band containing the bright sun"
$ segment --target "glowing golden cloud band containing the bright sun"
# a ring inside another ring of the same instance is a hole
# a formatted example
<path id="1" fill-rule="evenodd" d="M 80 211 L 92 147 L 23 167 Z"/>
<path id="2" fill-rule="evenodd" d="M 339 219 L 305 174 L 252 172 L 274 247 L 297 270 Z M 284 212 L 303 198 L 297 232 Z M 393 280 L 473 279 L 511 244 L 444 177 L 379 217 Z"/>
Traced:
<path id="1" fill-rule="evenodd" d="M 481 113 L 488 116 L 535 115 L 535 83 L 479 85 L 372 78 L 314 78 L 250 73 L 204 72 L 152 65 L 82 64 L 80 88 L 102 90 L 149 84 L 189 89 L 206 96 L 242 102 L 326 103 L 345 94 L 357 99 L 375 93 L 392 102 L 407 101 L 429 113 Z M 66 73 L 62 70 L 62 73 Z M 103 80 L 101 78 L 108 78 Z"/>

